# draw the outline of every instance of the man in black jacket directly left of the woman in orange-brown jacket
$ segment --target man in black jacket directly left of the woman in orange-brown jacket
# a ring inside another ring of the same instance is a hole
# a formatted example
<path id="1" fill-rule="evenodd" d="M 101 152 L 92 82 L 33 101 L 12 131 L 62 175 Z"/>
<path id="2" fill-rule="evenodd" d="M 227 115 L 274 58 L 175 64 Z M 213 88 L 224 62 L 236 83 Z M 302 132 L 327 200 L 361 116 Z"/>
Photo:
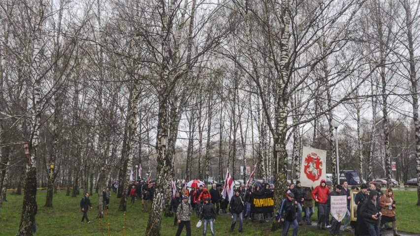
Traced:
<path id="1" fill-rule="evenodd" d="M 368 199 L 363 203 L 362 207 L 360 208 L 360 217 L 363 218 L 370 236 L 380 235 L 379 216 L 382 216 L 382 213 L 381 211 L 379 211 L 379 208 L 377 206 L 379 205 L 379 203 L 376 201 L 377 198 L 378 192 L 376 190 L 371 190 Z"/>

